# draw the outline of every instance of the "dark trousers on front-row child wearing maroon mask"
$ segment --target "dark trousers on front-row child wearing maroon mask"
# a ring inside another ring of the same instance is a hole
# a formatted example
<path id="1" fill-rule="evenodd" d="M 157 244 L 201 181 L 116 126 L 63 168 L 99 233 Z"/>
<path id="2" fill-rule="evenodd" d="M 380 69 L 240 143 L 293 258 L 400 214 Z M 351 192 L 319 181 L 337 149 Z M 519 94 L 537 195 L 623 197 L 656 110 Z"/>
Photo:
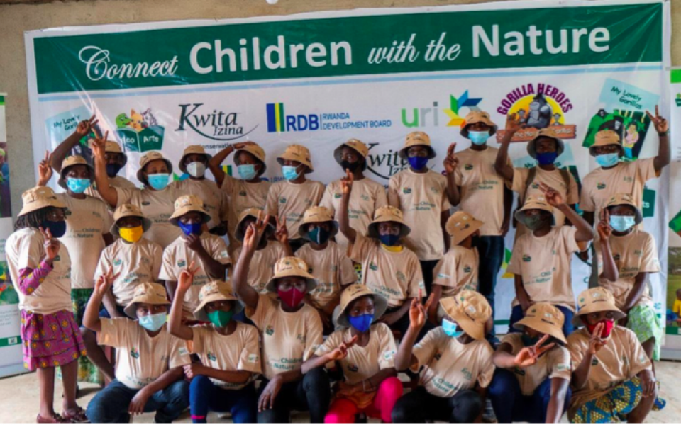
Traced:
<path id="1" fill-rule="evenodd" d="M 265 390 L 269 381 L 263 380 L 260 392 Z M 282 385 L 274 409 L 258 412 L 260 424 L 287 423 L 292 410 L 310 412 L 310 422 L 323 424 L 324 416 L 331 404 L 331 385 L 323 368 L 310 370 L 297 382 Z"/>

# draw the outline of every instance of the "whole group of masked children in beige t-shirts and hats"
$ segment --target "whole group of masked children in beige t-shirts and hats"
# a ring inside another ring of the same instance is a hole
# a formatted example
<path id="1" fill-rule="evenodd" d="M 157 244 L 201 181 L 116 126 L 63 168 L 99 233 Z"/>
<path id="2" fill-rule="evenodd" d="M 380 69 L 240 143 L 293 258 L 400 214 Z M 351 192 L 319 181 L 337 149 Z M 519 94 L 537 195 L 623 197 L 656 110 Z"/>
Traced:
<path id="1" fill-rule="evenodd" d="M 467 115 L 471 147 L 451 145 L 443 174 L 428 166 L 428 135 L 410 133 L 387 191 L 365 176 L 368 148 L 355 139 L 334 151 L 345 174 L 326 187 L 307 178 L 306 147 L 277 157 L 284 180 L 271 184 L 265 151 L 240 142 L 215 156 L 187 147 L 178 168 L 189 177 L 172 183 L 170 161 L 148 152 L 136 188 L 118 176 L 127 157 L 107 134 L 90 140 L 94 164 L 68 156 L 96 124 L 85 120 L 39 164 L 6 242 L 24 362 L 40 382 L 36 421 L 170 422 L 189 408 L 194 422 L 209 411 L 246 423 L 292 411 L 472 422 L 486 400 L 500 422 L 558 422 L 566 410 L 573 422 L 643 421 L 664 401 L 647 285 L 659 263 L 641 204 L 670 161 L 668 124 L 649 115 L 658 156 L 620 162 L 619 135 L 598 132 L 600 168 L 581 196 L 555 166 L 564 142 L 551 128 L 528 142 L 536 167 L 512 166 L 513 115 L 499 149 L 487 145 L 489 115 Z M 240 179 L 221 167 L 231 154 Z M 52 169 L 64 193 L 45 186 Z M 499 341 L 494 289 L 511 225 L 516 298 Z M 592 240 L 594 284 L 575 300 L 572 254 Z M 406 394 L 401 372 L 418 382 Z M 86 412 L 77 382 L 100 378 Z"/>

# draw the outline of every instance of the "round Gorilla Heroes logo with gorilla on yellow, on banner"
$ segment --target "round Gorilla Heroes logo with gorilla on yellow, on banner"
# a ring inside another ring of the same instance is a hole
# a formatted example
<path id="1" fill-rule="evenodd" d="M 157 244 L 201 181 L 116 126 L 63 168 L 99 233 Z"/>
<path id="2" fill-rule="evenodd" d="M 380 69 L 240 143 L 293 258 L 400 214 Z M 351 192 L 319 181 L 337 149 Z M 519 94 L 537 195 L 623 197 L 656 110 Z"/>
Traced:
<path id="1" fill-rule="evenodd" d="M 565 123 L 565 114 L 571 111 L 572 101 L 558 87 L 545 83 L 528 83 L 511 90 L 499 102 L 497 112 L 516 114 L 526 127 L 513 136 L 511 142 L 527 142 L 536 137 L 542 128 L 553 128 L 561 139 L 577 137 L 577 126 Z M 497 131 L 497 142 L 504 139 L 506 130 Z"/>

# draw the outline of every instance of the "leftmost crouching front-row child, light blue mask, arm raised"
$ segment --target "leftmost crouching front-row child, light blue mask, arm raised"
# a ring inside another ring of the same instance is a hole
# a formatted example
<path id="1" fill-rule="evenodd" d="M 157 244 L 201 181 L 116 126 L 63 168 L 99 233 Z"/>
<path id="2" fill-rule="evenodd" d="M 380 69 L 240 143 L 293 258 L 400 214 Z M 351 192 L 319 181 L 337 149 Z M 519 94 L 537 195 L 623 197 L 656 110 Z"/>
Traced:
<path id="1" fill-rule="evenodd" d="M 87 406 L 93 424 L 126 423 L 131 416 L 156 412 L 157 423 L 170 423 L 189 407 L 189 382 L 182 366 L 192 363 L 184 342 L 165 326 L 168 302 L 158 283 L 140 283 L 125 308 L 128 319 L 100 319 L 104 295 L 114 272 L 97 279 L 85 311 L 85 326 L 97 333 L 100 345 L 116 348 L 116 379 Z"/>

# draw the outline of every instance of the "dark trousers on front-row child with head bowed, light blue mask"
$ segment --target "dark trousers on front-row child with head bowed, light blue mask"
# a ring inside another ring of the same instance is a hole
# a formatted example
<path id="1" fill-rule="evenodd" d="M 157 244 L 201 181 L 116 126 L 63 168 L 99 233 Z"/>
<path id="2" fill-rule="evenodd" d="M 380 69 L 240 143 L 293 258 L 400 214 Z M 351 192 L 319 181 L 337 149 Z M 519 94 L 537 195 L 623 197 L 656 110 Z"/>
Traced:
<path id="1" fill-rule="evenodd" d="M 482 412 L 482 399 L 472 390 L 457 392 L 453 397 L 438 397 L 424 387 L 403 395 L 392 409 L 392 421 L 396 424 L 445 421 L 464 424 L 475 421 Z"/>

